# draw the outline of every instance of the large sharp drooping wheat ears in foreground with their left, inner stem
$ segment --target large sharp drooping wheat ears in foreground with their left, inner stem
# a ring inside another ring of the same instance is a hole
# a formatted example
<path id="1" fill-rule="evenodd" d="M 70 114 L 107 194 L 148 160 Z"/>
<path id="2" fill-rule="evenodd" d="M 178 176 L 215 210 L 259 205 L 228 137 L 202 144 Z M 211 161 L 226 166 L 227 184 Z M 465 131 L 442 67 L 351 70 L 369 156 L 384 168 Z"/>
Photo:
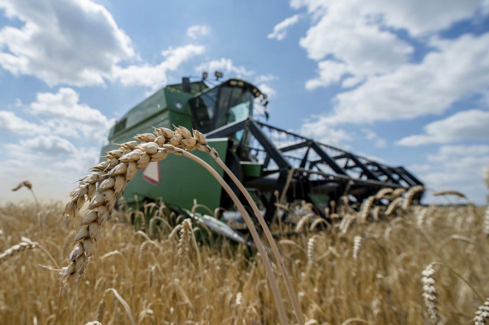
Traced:
<path id="1" fill-rule="evenodd" d="M 76 242 L 76 245 L 69 254 L 69 265 L 60 271 L 61 279 L 66 281 L 74 276 L 84 274 L 88 258 L 93 252 L 93 243 L 98 238 L 100 227 L 105 223 L 117 197 L 122 194 L 127 182 L 134 177 L 136 171 L 146 167 L 151 161 L 163 160 L 168 153 L 173 153 L 190 158 L 202 165 L 217 179 L 231 197 L 243 216 L 256 248 L 263 259 L 266 275 L 277 305 L 280 323 L 286 324 L 287 318 L 278 284 L 264 246 L 251 219 L 246 214 L 237 196 L 219 174 L 203 160 L 187 152 L 198 149 L 216 159 L 218 154 L 215 149 L 207 145 L 205 137 L 200 132 L 194 130 L 192 137 L 190 131 L 183 127 L 175 127 L 175 131 L 167 128 L 155 128 L 155 134 L 138 134 L 135 139 L 141 141 L 141 143 L 129 141 L 121 144 L 119 149 L 107 152 L 105 156 L 107 160 L 91 169 L 91 171 L 97 173 L 82 178 L 80 185 L 70 193 L 71 201 L 66 204 L 63 216 L 74 217 L 78 213 L 79 208 L 85 203 L 85 198 L 90 201 L 88 205 L 90 212 L 84 217 L 81 222 L 82 227 L 75 235 L 74 242 Z M 175 145 L 179 148 L 175 147 Z M 98 183 L 98 186 L 95 185 L 96 183 Z"/>

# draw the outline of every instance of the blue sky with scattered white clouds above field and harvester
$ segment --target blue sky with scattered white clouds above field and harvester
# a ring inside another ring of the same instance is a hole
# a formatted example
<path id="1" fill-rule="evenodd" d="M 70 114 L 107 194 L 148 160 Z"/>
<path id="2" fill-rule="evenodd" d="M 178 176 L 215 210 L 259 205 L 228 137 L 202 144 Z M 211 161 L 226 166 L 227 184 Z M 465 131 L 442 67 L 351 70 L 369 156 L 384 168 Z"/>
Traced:
<path id="1" fill-rule="evenodd" d="M 218 69 L 271 124 L 483 203 L 488 49 L 487 0 L 0 0 L 0 201 L 64 197 L 114 119 Z"/>

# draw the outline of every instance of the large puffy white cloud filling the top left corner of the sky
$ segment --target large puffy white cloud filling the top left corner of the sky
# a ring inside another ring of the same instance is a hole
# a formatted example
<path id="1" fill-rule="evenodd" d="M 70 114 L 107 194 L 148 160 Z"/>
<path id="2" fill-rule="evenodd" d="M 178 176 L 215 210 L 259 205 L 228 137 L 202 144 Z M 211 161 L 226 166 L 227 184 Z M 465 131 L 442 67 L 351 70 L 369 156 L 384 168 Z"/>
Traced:
<path id="1" fill-rule="evenodd" d="M 19 28 L 0 29 L 0 66 L 49 85 L 103 84 L 113 66 L 134 57 L 129 37 L 112 15 L 90 0 L 3 0 Z"/>

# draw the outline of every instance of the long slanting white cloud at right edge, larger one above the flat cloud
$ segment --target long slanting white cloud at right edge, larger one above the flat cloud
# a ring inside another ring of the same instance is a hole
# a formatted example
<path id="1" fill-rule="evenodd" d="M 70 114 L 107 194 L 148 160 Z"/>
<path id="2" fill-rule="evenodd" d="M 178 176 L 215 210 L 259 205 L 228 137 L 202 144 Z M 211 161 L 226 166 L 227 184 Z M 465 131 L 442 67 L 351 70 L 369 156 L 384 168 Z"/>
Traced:
<path id="1" fill-rule="evenodd" d="M 369 78 L 334 99 L 323 124 L 371 123 L 439 114 L 466 96 L 489 90 L 489 33 L 431 42 L 437 50 L 420 63 Z M 456 62 L 456 64 L 454 64 Z"/>

